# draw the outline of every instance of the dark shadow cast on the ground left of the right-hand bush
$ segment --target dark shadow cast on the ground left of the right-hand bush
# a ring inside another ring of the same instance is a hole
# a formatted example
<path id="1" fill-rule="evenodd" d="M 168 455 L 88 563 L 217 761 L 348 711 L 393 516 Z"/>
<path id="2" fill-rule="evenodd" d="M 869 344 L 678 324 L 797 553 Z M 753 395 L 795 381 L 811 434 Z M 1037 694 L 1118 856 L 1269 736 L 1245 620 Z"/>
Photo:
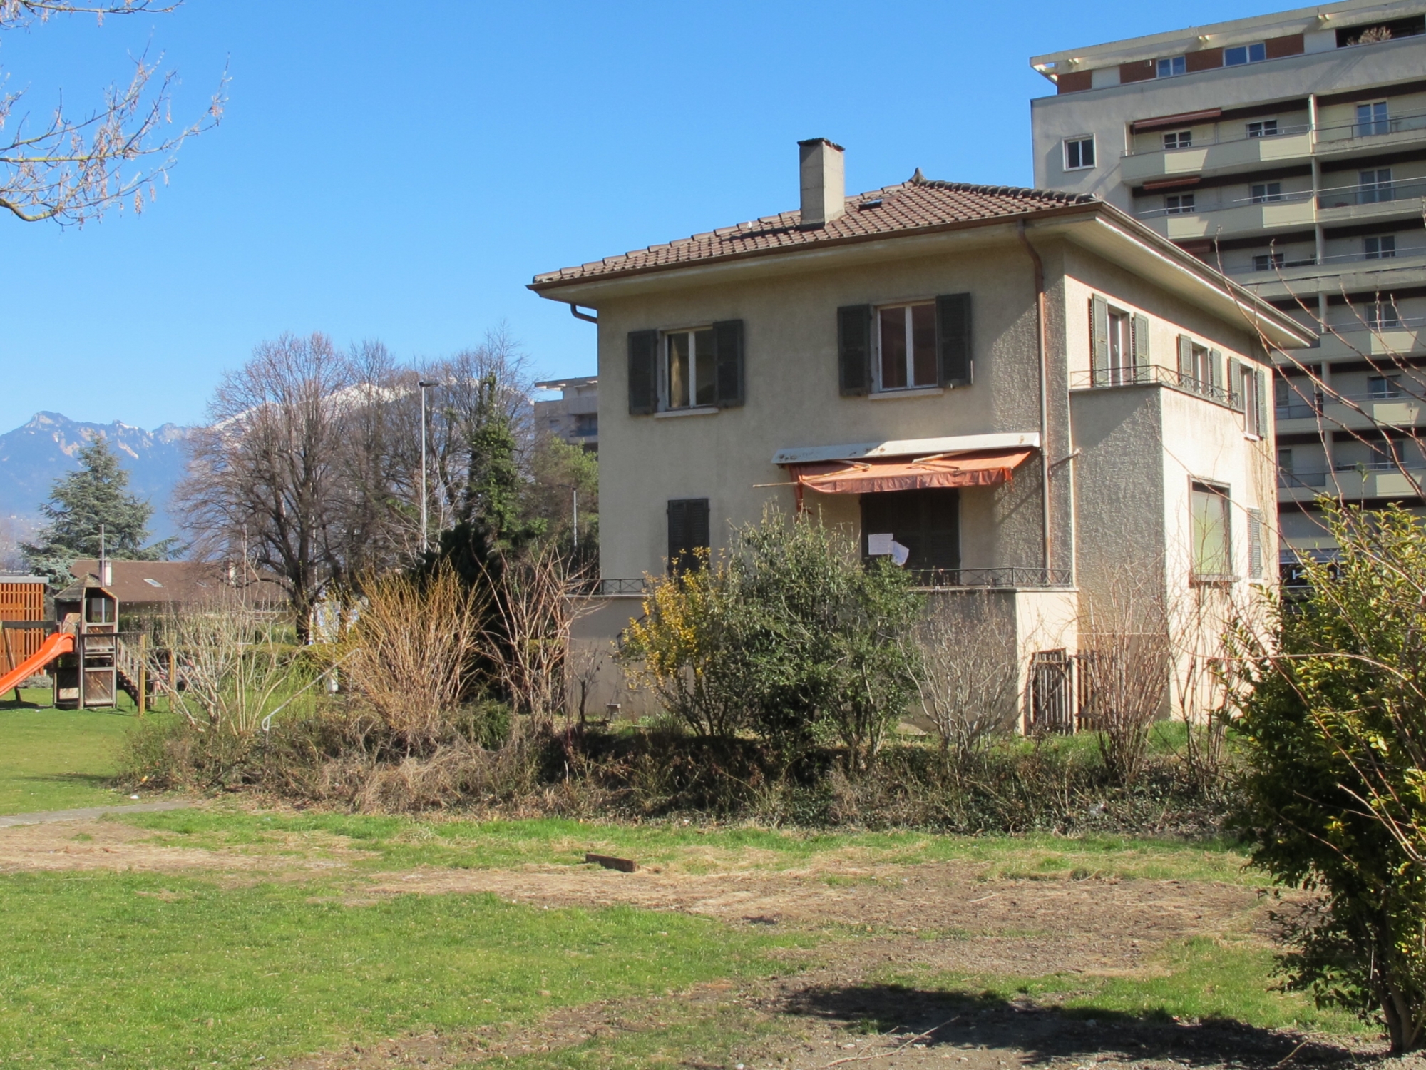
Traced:
<path id="1" fill-rule="evenodd" d="M 891 1033 L 934 1047 L 1015 1047 L 1027 1061 L 1119 1053 L 1125 1060 L 1175 1060 L 1184 1066 L 1228 1063 L 1241 1067 L 1333 1066 L 1353 1053 L 1330 1040 L 1289 1030 L 1248 1026 L 1232 1019 L 1179 1021 L 1168 1013 L 1125 1014 L 1075 1007 L 1057 1010 L 1031 1002 L 970 992 L 933 992 L 901 984 L 807 989 L 787 1003 L 793 1014 Z M 917 1036 L 924 1033 L 925 1036 Z M 1360 1051 L 1356 1059 L 1360 1059 Z M 1291 1057 L 1291 1060 L 1289 1060 Z"/>

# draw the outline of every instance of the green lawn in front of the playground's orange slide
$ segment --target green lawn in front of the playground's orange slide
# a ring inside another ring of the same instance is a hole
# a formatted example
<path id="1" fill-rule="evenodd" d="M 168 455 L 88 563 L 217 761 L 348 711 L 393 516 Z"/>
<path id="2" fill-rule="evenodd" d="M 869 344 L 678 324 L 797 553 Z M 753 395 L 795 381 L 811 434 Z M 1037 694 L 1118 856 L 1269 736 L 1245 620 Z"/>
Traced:
<path id="1" fill-rule="evenodd" d="M 48 700 L 48 691 L 23 691 L 21 705 L 0 702 L 0 815 L 125 799 L 108 778 L 133 710 L 36 708 Z"/>

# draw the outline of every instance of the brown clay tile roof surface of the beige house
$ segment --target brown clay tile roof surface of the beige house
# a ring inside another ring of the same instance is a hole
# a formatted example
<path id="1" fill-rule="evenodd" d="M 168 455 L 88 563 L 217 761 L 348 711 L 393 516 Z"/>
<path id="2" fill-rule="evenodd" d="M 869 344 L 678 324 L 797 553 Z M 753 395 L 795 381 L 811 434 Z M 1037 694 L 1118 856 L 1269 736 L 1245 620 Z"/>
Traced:
<path id="1" fill-rule="evenodd" d="M 694 234 L 665 245 L 605 257 L 579 267 L 560 268 L 535 275 L 533 290 L 575 282 L 600 275 L 623 275 L 639 271 L 680 267 L 699 261 L 726 260 L 830 244 L 857 238 L 876 238 L 907 231 L 953 227 L 958 223 L 980 223 L 1012 218 L 1030 213 L 1064 208 L 1075 204 L 1095 204 L 1099 198 L 1088 194 L 1027 190 L 1017 185 L 974 185 L 971 183 L 943 183 L 924 178 L 920 170 L 908 181 L 887 185 L 847 198 L 847 213 L 826 227 L 801 230 L 800 211 L 764 215 L 736 227 Z"/>

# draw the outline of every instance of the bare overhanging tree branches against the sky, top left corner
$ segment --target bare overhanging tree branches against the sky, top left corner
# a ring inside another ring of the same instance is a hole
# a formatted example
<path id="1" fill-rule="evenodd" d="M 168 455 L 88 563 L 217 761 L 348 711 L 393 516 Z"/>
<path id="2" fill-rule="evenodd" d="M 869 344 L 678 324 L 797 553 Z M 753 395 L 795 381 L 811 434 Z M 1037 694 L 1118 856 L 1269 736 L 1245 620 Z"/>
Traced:
<path id="1" fill-rule="evenodd" d="M 155 14 L 177 4 L 116 0 L 106 4 L 66 0 L 0 0 L 0 31 L 44 23 L 57 14 Z M 0 208 L 26 223 L 54 220 L 83 224 L 108 210 L 144 210 L 155 184 L 167 181 L 184 140 L 217 126 L 225 103 L 222 84 L 204 116 L 173 130 L 170 116 L 175 76 L 158 76 L 145 56 L 134 60 L 124 87 L 110 86 L 100 107 L 73 117 L 63 106 L 41 121 L 20 114 L 23 93 L 0 96 Z"/>

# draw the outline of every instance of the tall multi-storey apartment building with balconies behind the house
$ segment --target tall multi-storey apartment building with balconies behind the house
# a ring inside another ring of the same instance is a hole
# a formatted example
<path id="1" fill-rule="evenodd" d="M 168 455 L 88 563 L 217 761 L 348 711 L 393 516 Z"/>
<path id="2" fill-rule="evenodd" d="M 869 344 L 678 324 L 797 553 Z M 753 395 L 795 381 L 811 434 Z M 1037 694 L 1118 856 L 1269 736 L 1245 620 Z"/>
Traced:
<path id="1" fill-rule="evenodd" d="M 1055 86 L 1031 101 L 1037 187 L 1102 197 L 1319 327 L 1318 347 L 1278 370 L 1283 559 L 1330 548 L 1310 511 L 1323 491 L 1420 509 L 1426 0 L 1348 0 L 1031 66 Z"/>

